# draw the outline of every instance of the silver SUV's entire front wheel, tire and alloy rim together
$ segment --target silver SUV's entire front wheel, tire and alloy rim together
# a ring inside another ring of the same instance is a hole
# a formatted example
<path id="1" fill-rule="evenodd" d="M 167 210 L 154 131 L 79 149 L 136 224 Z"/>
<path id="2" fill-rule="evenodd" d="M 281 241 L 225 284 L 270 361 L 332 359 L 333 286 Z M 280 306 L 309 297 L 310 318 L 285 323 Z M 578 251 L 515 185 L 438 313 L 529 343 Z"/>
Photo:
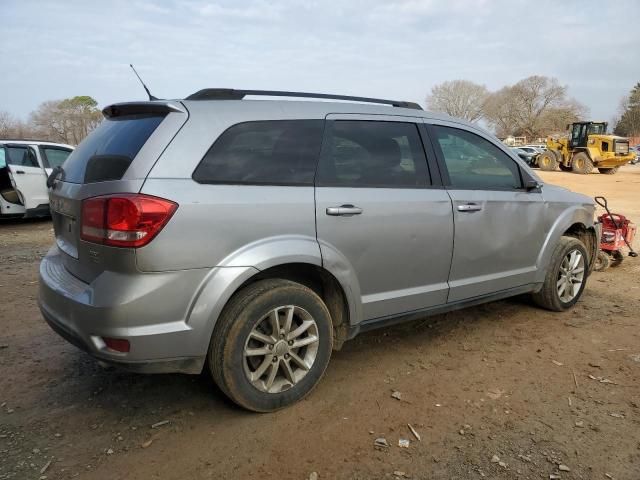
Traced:
<path id="1" fill-rule="evenodd" d="M 533 301 L 547 310 L 562 312 L 573 307 L 587 284 L 589 255 L 584 244 L 574 237 L 561 237 L 551 255 L 540 291 Z"/>

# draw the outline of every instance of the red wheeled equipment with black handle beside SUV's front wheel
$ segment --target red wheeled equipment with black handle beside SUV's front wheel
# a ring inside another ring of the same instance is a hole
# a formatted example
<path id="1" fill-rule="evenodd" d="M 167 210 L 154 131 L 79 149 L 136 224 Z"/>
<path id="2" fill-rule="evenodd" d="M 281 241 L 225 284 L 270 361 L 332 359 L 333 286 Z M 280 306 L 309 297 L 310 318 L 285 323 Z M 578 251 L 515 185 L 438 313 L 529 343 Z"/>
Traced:
<path id="1" fill-rule="evenodd" d="M 624 259 L 622 249 L 629 248 L 629 256 L 637 257 L 638 254 L 631 246 L 636 235 L 636 226 L 624 215 L 611 213 L 604 197 L 595 198 L 598 205 L 607 213 L 598 217 L 602 223 L 602 237 L 600 238 L 600 251 L 594 265 L 594 270 L 606 270 L 610 265 L 620 265 Z"/>

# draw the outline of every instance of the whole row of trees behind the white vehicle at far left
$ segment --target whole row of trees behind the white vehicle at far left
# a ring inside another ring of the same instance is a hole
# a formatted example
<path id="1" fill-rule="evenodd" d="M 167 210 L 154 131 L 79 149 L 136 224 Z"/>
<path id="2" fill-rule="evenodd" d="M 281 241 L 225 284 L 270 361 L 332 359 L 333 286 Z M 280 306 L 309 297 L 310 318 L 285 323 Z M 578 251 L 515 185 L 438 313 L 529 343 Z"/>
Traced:
<path id="1" fill-rule="evenodd" d="M 35 139 L 77 145 L 102 121 L 98 102 L 81 95 L 43 102 L 23 121 L 0 111 L 0 139 Z"/>

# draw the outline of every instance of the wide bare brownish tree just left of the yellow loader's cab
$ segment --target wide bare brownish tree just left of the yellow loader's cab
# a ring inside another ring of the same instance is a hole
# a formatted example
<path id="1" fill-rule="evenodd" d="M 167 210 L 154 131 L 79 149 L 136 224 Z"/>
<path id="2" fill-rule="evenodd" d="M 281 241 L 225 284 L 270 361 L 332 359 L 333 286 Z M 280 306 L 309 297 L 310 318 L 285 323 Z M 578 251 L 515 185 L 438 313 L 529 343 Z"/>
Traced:
<path id="1" fill-rule="evenodd" d="M 567 123 L 586 114 L 586 107 L 568 98 L 567 87 L 557 79 L 537 75 L 491 94 L 484 106 L 498 136 L 543 137 L 564 131 Z"/>

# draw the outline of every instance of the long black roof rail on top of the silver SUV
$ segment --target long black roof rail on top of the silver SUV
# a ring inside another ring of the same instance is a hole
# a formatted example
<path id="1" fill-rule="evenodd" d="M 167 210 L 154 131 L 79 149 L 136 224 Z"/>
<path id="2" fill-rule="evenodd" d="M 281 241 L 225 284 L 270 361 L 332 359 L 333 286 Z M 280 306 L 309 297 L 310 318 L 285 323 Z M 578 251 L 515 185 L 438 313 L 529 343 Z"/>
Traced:
<path id="1" fill-rule="evenodd" d="M 234 90 L 232 88 L 205 88 L 189 95 L 185 100 L 242 100 L 247 95 L 262 97 L 295 97 L 295 98 L 322 98 L 327 100 L 346 100 L 349 102 L 379 103 L 394 107 L 422 110 L 422 107 L 414 102 L 401 100 L 385 100 L 382 98 L 352 97 L 349 95 L 331 95 L 328 93 L 307 92 L 282 92 L 278 90 Z"/>

